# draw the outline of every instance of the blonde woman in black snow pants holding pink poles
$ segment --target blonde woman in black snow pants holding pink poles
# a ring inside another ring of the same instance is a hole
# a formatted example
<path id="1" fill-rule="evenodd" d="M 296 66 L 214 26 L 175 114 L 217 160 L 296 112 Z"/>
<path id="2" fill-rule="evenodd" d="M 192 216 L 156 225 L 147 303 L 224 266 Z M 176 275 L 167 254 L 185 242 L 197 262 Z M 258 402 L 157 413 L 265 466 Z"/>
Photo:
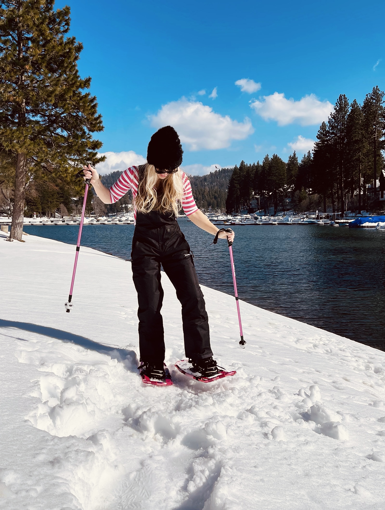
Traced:
<path id="1" fill-rule="evenodd" d="M 215 235 L 218 228 L 199 211 L 186 174 L 178 170 L 182 154 L 177 132 L 165 126 L 151 137 L 147 164 L 128 168 L 111 188 L 101 183 L 94 168 L 83 167 L 84 178 L 91 179 L 95 193 L 104 203 L 116 202 L 132 190 L 135 231 L 131 260 L 138 293 L 143 380 L 144 376 L 155 381 L 165 380 L 161 265 L 182 304 L 184 346 L 191 370 L 203 377 L 219 372 L 212 359 L 208 317 L 190 247 L 177 222 L 178 209 L 181 206 L 193 223 L 210 234 Z M 233 241 L 234 233 L 221 232 L 219 237 Z"/>

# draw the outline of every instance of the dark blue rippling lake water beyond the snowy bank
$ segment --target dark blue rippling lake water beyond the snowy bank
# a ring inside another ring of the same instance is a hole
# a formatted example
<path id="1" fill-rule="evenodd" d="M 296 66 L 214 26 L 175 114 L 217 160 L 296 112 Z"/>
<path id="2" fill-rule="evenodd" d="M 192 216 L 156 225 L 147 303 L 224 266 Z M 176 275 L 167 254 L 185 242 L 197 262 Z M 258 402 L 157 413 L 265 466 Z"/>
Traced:
<path id="1" fill-rule="evenodd" d="M 200 283 L 233 294 L 226 241 L 210 245 L 212 236 L 185 218 L 178 221 Z M 385 350 L 385 231 L 318 225 L 233 229 L 240 299 Z M 24 231 L 76 244 L 79 226 Z M 86 225 L 82 245 L 130 259 L 133 232 L 133 225 Z"/>

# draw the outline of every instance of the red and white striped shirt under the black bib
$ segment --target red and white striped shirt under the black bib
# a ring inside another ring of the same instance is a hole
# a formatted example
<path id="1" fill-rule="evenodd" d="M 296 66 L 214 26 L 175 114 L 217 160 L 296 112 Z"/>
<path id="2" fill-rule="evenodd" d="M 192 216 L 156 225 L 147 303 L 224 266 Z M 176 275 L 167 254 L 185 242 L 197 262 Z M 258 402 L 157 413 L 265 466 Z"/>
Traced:
<path id="1" fill-rule="evenodd" d="M 192 190 L 190 181 L 184 172 L 182 174 L 183 182 L 183 199 L 182 208 L 186 216 L 198 211 L 197 204 L 195 203 L 194 197 L 192 196 Z M 128 190 L 132 191 L 132 197 L 135 199 L 138 193 L 139 186 L 139 172 L 136 166 L 130 166 L 127 168 L 119 179 L 110 188 L 111 203 L 115 203 L 127 193 Z M 136 207 L 134 210 L 134 223 L 136 223 Z"/>

